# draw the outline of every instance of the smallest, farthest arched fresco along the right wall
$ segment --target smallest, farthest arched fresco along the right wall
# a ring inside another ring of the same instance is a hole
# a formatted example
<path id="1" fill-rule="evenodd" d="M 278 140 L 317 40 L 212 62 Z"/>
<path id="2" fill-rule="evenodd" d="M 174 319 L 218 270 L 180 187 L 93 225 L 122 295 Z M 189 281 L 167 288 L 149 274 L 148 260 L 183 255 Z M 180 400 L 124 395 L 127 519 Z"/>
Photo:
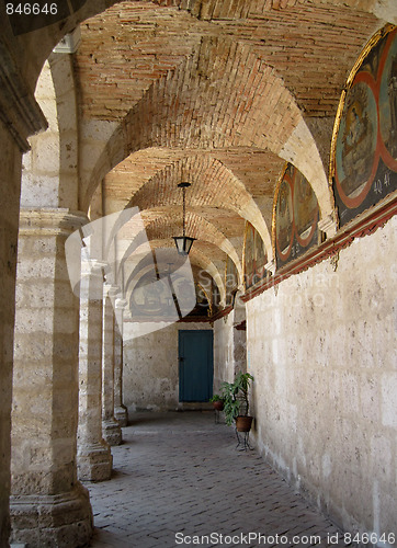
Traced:
<path id="1" fill-rule="evenodd" d="M 245 285 L 248 289 L 268 275 L 265 270 L 266 250 L 260 233 L 250 222 L 246 224 L 243 258 Z"/>

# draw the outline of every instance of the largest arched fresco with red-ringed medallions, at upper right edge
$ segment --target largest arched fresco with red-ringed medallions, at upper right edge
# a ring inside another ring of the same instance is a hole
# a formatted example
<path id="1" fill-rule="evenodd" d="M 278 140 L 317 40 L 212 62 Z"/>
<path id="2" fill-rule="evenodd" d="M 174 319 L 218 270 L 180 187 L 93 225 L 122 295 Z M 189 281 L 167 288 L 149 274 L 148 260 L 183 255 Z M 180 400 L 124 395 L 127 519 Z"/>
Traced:
<path id="1" fill-rule="evenodd" d="M 331 163 L 340 226 L 397 189 L 397 28 L 390 28 L 366 48 L 340 102 Z"/>

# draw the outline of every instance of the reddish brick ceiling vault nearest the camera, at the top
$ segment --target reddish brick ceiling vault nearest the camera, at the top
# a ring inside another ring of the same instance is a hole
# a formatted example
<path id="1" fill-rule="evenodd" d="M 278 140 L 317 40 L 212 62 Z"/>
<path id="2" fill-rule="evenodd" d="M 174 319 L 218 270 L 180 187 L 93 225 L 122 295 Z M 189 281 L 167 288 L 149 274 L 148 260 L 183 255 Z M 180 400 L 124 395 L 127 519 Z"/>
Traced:
<path id="1" fill-rule="evenodd" d="M 180 9 L 165 8 L 171 3 Z M 120 119 L 156 80 L 172 79 L 175 68 L 194 57 L 202 38 L 208 37 L 209 42 L 218 39 L 225 49 L 211 56 L 208 48 L 201 48 L 198 62 L 189 66 L 192 73 L 185 73 L 186 87 L 209 61 L 214 91 L 229 98 L 223 85 L 227 89 L 232 83 L 237 67 L 248 59 L 238 52 L 236 64 L 228 66 L 231 71 L 222 70 L 228 68 L 226 44 L 243 42 L 253 53 L 251 78 L 257 71 L 256 58 L 261 59 L 275 69 L 307 115 L 332 115 L 345 77 L 377 26 L 373 15 L 331 2 L 117 3 L 82 25 L 82 44 L 76 56 L 82 111 L 90 117 Z M 268 94 L 273 94 L 271 85 Z M 190 102 L 194 99 L 190 96 Z"/>

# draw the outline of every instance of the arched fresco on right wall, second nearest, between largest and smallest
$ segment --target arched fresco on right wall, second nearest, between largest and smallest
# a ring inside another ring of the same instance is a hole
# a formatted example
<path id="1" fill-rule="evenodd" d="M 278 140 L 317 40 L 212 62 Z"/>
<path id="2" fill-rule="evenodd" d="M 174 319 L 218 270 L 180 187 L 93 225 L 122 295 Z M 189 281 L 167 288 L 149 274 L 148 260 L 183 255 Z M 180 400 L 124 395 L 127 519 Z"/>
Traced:
<path id="1" fill-rule="evenodd" d="M 319 207 L 310 183 L 287 163 L 275 192 L 273 241 L 277 266 L 318 243 Z"/>

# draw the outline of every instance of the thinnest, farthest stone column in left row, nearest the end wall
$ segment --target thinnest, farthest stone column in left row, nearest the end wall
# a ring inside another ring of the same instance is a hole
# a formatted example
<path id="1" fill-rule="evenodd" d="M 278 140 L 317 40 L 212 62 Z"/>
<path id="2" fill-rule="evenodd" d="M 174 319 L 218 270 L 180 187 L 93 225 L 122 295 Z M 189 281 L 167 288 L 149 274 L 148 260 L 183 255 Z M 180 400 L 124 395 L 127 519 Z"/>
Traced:
<path id="1" fill-rule="evenodd" d="M 128 424 L 128 411 L 123 403 L 123 317 L 127 301 L 116 299 L 114 322 L 114 416 L 121 426 Z"/>

